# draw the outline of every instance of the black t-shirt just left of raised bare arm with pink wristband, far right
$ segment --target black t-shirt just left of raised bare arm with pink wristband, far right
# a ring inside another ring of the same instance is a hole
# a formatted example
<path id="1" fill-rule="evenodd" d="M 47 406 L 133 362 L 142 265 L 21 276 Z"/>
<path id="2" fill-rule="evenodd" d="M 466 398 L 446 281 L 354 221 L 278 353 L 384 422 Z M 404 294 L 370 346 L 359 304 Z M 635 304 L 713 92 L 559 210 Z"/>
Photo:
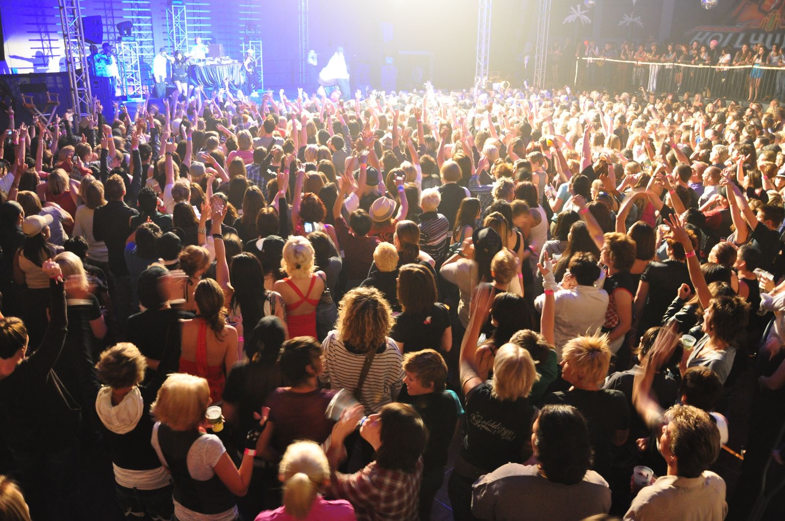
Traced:
<path id="1" fill-rule="evenodd" d="M 678 260 L 651 262 L 641 274 L 641 282 L 648 282 L 648 297 L 641 316 L 638 331 L 644 332 L 659 326 L 668 306 L 674 301 L 679 287 L 687 284 L 692 287 L 687 264 Z"/>

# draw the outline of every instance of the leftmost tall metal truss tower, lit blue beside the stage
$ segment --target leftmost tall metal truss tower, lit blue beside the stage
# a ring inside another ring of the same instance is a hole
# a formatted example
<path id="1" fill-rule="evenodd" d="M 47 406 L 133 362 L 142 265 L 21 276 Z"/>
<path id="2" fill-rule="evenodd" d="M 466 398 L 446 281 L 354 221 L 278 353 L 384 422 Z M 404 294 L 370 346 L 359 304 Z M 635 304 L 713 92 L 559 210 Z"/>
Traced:
<path id="1" fill-rule="evenodd" d="M 88 115 L 93 104 L 90 93 L 90 73 L 85 53 L 85 33 L 82 27 L 80 0 L 58 0 L 60 25 L 63 27 L 65 66 L 68 71 L 68 86 L 71 107 L 75 114 Z"/>

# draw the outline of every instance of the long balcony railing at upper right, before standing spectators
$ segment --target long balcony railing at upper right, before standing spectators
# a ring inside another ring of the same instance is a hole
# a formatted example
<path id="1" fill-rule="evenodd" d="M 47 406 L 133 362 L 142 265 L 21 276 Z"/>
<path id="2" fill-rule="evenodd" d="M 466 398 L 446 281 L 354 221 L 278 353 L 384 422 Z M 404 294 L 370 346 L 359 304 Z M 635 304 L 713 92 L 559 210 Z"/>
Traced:
<path id="1" fill-rule="evenodd" d="M 768 65 L 693 65 L 614 58 L 575 62 L 575 86 L 638 90 L 649 93 L 700 93 L 730 100 L 785 100 L 785 67 Z"/>

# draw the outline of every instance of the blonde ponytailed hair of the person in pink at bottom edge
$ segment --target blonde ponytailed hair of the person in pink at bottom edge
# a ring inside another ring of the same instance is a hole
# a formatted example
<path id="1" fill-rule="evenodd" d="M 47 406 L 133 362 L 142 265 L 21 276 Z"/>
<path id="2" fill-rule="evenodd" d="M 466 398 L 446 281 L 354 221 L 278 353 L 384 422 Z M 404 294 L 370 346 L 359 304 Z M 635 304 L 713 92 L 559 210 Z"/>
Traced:
<path id="1" fill-rule="evenodd" d="M 330 481 L 330 464 L 314 442 L 299 441 L 287 447 L 278 466 L 283 481 L 283 510 L 295 519 L 305 519 L 323 483 Z"/>

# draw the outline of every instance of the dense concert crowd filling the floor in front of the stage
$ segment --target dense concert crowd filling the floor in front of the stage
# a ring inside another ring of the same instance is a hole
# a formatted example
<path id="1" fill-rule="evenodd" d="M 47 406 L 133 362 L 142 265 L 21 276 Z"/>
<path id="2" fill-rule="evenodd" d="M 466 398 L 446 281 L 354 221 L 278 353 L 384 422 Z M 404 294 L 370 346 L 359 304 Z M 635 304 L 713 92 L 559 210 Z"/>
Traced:
<path id="1" fill-rule="evenodd" d="M 776 100 L 238 96 L 9 111 L 3 519 L 781 516 Z"/>

